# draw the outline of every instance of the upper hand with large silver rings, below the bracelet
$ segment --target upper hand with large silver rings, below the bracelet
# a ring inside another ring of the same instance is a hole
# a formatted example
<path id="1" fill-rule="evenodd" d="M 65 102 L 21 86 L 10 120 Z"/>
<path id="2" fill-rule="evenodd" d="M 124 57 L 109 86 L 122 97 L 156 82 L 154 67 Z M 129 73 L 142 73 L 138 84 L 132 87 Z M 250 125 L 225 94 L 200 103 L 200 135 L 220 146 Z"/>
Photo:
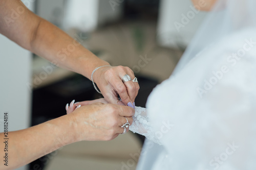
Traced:
<path id="1" fill-rule="evenodd" d="M 122 82 L 124 75 L 129 75 L 133 80 L 134 72 L 129 67 L 101 67 L 95 71 L 93 80 L 109 103 L 134 107 L 134 100 L 139 91 L 137 82 Z M 118 99 L 118 94 L 122 101 Z"/>

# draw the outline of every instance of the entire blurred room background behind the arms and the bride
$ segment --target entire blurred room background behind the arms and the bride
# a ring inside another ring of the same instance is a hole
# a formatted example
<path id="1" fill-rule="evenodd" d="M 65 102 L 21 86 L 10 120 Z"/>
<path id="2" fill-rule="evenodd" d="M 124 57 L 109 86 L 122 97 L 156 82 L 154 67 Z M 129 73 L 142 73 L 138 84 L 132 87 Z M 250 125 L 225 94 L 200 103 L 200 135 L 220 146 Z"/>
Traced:
<path id="1" fill-rule="evenodd" d="M 140 84 L 135 103 L 141 107 L 153 88 L 172 74 L 205 16 L 189 0 L 23 2 L 99 58 L 132 68 Z M 64 115 L 73 99 L 101 97 L 87 78 L 54 66 L 2 35 L 0 46 L 0 111 L 9 112 L 10 130 Z M 19 169 L 136 169 L 143 141 L 129 132 L 108 142 L 77 142 Z"/>

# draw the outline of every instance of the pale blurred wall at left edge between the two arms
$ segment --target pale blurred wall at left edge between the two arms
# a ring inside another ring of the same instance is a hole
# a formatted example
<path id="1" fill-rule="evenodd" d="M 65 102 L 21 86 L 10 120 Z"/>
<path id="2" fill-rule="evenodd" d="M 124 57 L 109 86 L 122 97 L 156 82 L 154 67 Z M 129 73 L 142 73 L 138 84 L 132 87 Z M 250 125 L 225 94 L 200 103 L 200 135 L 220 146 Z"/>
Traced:
<path id="1" fill-rule="evenodd" d="M 32 9 L 32 0 L 23 2 Z M 0 35 L 0 58 L 0 131 L 4 131 L 4 112 L 9 113 L 9 131 L 28 128 L 31 117 L 31 93 L 26 84 L 30 81 L 31 75 L 31 53 Z M 11 140 L 9 138 L 10 143 Z M 17 169 L 27 168 L 24 166 Z"/>

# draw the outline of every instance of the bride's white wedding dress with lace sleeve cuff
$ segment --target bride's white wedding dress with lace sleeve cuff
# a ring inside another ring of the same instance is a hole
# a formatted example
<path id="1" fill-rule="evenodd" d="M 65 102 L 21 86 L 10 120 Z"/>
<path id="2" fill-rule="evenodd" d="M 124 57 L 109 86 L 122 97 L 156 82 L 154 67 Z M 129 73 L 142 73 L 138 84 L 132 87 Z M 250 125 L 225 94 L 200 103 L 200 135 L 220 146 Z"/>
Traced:
<path id="1" fill-rule="evenodd" d="M 225 3 L 225 14 L 256 8 L 254 0 Z M 223 15 L 223 3 L 218 7 Z M 206 39 L 189 59 L 198 43 L 190 46 L 183 65 L 153 90 L 147 109 L 136 107 L 130 130 L 147 137 L 137 169 L 256 169 L 256 15 L 245 16 L 252 20 L 210 32 L 220 36 Z"/>

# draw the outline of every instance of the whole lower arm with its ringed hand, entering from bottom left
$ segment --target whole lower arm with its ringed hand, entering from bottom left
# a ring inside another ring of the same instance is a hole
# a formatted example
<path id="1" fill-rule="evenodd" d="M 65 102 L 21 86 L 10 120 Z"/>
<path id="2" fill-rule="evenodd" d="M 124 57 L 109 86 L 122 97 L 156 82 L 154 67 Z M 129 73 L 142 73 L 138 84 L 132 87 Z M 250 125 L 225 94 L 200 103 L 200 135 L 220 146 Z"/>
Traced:
<path id="1" fill-rule="evenodd" d="M 26 165 L 73 142 L 112 140 L 123 132 L 124 116 L 132 124 L 133 115 L 134 109 L 128 106 L 95 103 L 31 128 L 8 132 L 8 166 L 2 161 L 0 169 Z M 5 138 L 4 133 L 0 136 Z M 0 148 L 4 156 L 4 142 L 0 142 Z"/>

